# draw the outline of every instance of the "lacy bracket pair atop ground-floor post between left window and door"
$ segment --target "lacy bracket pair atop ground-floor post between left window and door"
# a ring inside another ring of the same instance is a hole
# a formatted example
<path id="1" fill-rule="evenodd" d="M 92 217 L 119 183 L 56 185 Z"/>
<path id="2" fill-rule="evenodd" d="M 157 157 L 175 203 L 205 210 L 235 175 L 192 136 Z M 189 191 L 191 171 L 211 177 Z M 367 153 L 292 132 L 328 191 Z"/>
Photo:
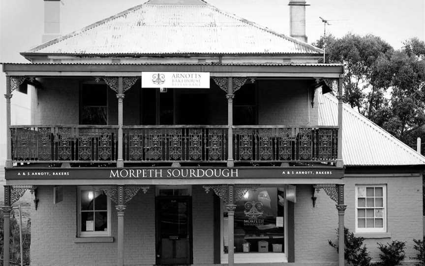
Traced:
<path id="1" fill-rule="evenodd" d="M 116 204 L 124 205 L 129 202 L 139 190 L 142 190 L 144 194 L 148 192 L 149 186 L 111 186 L 111 187 L 100 187 L 98 190 L 102 190 L 105 194 Z"/>

